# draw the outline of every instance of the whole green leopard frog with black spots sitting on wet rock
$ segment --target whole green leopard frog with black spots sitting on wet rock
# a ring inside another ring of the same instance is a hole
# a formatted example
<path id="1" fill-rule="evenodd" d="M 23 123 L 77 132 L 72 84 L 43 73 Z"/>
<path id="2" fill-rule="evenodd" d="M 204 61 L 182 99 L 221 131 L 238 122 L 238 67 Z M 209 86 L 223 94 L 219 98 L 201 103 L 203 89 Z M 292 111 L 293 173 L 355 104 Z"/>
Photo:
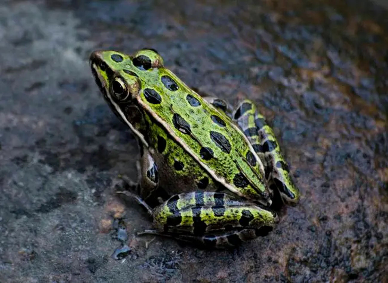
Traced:
<path id="1" fill-rule="evenodd" d="M 268 209 L 275 189 L 283 201 L 298 201 L 274 133 L 251 101 L 230 110 L 201 97 L 151 49 L 95 51 L 90 65 L 107 103 L 139 139 L 140 192 L 126 194 L 152 215 L 155 230 L 146 233 L 234 247 L 277 223 Z M 171 197 L 152 209 L 143 199 L 158 187 Z"/>

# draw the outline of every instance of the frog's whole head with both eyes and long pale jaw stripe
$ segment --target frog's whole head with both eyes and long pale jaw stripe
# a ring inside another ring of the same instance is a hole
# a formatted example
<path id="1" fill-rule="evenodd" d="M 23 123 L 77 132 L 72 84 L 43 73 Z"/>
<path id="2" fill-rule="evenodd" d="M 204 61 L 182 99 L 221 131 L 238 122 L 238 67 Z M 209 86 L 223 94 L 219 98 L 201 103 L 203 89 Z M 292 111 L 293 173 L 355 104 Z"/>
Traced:
<path id="1" fill-rule="evenodd" d="M 139 136 L 139 110 L 136 99 L 140 97 L 145 72 L 163 67 L 162 57 L 152 49 L 143 49 L 134 56 L 113 50 L 98 50 L 90 55 L 90 67 L 100 91 L 113 112 Z"/>

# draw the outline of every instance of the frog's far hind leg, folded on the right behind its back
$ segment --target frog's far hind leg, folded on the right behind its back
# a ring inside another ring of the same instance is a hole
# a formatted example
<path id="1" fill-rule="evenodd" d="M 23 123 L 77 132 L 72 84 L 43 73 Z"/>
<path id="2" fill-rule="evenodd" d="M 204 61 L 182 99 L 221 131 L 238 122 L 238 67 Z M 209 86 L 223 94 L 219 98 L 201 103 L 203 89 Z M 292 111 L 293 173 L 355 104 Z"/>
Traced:
<path id="1" fill-rule="evenodd" d="M 256 105 L 250 100 L 241 101 L 232 117 L 262 160 L 265 178 L 270 188 L 272 190 L 277 188 L 284 201 L 296 203 L 299 199 L 299 191 L 291 179 L 287 162 L 279 148 L 274 131 L 268 126 L 265 117 L 258 112 Z"/>

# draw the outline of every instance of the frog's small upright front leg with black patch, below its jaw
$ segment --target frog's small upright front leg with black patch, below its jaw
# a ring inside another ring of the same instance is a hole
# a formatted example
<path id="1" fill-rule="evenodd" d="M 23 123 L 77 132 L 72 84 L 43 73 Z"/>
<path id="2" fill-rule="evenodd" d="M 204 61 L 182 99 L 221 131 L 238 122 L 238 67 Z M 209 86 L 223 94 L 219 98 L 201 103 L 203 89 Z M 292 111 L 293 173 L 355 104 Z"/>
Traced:
<path id="1" fill-rule="evenodd" d="M 145 199 L 159 184 L 158 166 L 147 148 L 140 150 L 140 195 Z"/>

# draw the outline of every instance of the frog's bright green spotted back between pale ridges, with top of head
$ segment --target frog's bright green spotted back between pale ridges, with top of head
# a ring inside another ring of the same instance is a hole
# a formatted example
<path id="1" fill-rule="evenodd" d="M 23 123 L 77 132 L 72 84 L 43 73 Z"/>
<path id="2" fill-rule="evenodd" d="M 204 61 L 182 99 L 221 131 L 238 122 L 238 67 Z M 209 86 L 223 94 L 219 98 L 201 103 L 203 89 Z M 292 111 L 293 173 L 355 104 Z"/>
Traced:
<path id="1" fill-rule="evenodd" d="M 164 68 L 158 53 L 140 50 L 130 57 L 112 51 L 105 55 L 106 60 L 115 56 L 121 60 L 112 64 L 121 65 L 122 76 L 140 80 L 135 95 L 140 108 L 204 171 L 238 195 L 270 203 L 260 159 L 225 114 Z"/>

